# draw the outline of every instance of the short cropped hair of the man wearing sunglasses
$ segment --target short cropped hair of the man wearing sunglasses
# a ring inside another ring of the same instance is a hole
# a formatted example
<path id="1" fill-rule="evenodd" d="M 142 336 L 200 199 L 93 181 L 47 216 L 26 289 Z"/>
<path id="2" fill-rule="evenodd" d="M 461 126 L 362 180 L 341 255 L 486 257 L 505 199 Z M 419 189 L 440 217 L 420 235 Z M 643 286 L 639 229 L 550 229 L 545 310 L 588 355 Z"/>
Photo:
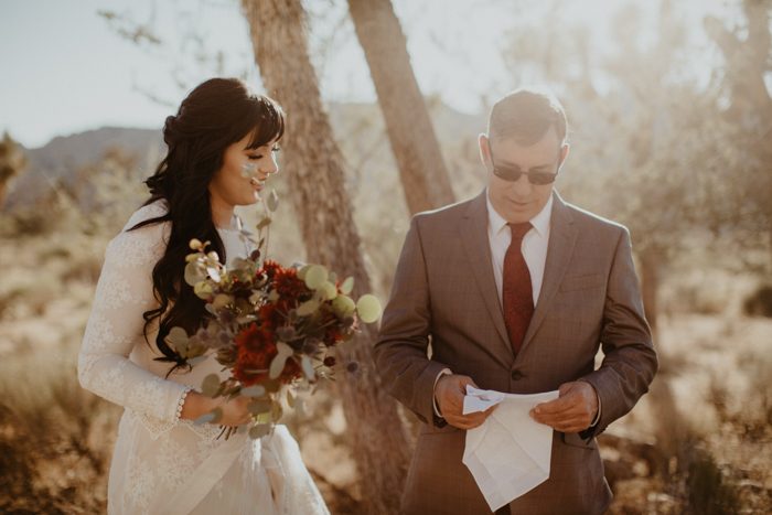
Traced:
<path id="1" fill-rule="evenodd" d="M 560 144 L 566 142 L 566 111 L 555 95 L 535 88 L 519 88 L 501 98 L 491 108 L 487 135 L 491 138 L 514 136 L 526 144 L 542 139 L 555 127 Z"/>

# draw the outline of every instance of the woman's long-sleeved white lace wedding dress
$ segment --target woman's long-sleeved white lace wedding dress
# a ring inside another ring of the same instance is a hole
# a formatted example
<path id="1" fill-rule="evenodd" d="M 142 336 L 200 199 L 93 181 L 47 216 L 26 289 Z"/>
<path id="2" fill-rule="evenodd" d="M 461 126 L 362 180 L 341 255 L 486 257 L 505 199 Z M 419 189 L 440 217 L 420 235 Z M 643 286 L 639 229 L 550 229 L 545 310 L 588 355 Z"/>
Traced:
<path id="1" fill-rule="evenodd" d="M 213 356 L 192 372 L 164 378 L 153 361 L 158 325 L 142 335 L 142 313 L 158 305 L 152 269 L 163 255 L 170 223 L 128 232 L 165 213 L 159 201 L 137 211 L 107 246 L 83 346 L 84 388 L 124 406 L 108 482 L 109 514 L 326 514 L 297 442 L 283 426 L 260 440 L 178 419 L 186 390 L 219 372 Z M 249 248 L 237 229 L 218 229 L 228 261 Z"/>

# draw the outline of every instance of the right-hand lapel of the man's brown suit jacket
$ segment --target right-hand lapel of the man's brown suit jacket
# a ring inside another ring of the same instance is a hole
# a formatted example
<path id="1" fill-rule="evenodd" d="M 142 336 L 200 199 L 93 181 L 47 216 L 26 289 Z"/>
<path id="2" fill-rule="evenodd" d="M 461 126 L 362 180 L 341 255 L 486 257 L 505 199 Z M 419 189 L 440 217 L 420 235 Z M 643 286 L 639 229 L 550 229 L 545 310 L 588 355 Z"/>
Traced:
<path id="1" fill-rule="evenodd" d="M 530 343 L 534 334 L 536 334 L 542 322 L 544 322 L 544 318 L 551 307 L 555 294 L 571 261 L 573 245 L 577 240 L 577 229 L 573 226 L 571 213 L 557 192 L 554 193 L 554 199 L 542 291 L 539 292 L 539 300 L 530 319 L 528 331 L 526 331 L 523 339 L 521 353 Z"/>

